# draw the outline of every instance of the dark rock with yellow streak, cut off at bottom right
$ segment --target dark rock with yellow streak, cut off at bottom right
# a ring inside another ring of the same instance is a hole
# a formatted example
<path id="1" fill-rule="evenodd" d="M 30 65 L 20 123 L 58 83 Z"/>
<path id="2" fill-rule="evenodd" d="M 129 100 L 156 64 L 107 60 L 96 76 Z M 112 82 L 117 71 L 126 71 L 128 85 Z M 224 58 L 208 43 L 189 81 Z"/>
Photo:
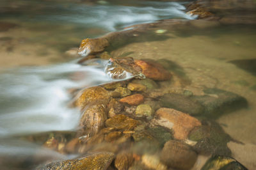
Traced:
<path id="1" fill-rule="evenodd" d="M 205 163 L 202 170 L 208 169 L 216 169 L 216 170 L 246 170 L 242 164 L 237 162 L 234 158 L 231 157 L 223 157 L 223 156 L 215 156 L 211 157 Z"/>

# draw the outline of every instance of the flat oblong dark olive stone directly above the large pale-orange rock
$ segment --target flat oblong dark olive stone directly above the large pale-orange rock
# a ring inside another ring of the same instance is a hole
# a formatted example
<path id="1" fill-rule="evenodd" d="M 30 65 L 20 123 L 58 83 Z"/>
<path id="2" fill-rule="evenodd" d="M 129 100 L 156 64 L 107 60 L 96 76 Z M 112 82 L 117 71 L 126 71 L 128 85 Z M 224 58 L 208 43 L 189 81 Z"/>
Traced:
<path id="1" fill-rule="evenodd" d="M 184 95 L 168 93 L 161 98 L 163 107 L 172 108 L 191 115 L 202 114 L 204 107 L 195 100 Z"/>

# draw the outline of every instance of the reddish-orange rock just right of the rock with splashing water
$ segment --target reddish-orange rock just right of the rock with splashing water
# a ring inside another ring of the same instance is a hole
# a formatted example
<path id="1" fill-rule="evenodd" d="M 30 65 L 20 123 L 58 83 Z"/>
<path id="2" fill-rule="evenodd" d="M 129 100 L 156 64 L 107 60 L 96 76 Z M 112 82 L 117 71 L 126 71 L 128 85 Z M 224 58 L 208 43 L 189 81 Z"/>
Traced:
<path id="1" fill-rule="evenodd" d="M 135 60 L 136 65 L 140 66 L 142 69 L 142 73 L 150 79 L 155 81 L 166 81 L 170 79 L 171 74 L 167 70 L 163 68 L 163 66 L 150 62 L 150 61 L 142 61 Z"/>

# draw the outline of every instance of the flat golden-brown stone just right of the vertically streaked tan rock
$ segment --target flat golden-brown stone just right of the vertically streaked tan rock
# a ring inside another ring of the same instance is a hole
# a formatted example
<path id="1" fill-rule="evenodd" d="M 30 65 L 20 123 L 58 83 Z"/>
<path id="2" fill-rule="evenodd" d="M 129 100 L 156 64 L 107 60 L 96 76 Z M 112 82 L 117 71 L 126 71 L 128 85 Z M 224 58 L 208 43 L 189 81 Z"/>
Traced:
<path id="1" fill-rule="evenodd" d="M 133 130 L 139 122 L 133 120 L 124 114 L 117 114 L 116 116 L 106 120 L 106 127 L 114 127 L 118 130 Z"/>

